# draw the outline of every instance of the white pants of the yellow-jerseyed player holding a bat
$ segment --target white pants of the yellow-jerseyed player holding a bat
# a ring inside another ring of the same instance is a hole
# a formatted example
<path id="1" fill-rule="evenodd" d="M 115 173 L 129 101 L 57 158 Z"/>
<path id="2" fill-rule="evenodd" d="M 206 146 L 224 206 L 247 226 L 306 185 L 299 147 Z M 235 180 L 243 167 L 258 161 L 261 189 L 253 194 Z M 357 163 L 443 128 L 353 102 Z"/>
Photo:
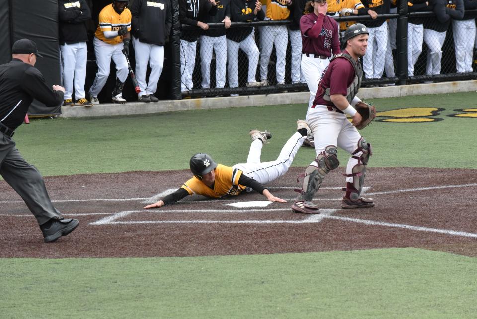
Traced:
<path id="1" fill-rule="evenodd" d="M 121 82 L 125 82 L 128 78 L 129 69 L 128 62 L 123 52 L 123 43 L 109 44 L 94 37 L 94 53 L 96 54 L 96 64 L 98 65 L 98 73 L 94 78 L 93 84 L 89 89 L 93 97 L 97 97 L 99 92 L 106 84 L 109 77 L 111 59 L 116 64 L 116 77 Z"/>

